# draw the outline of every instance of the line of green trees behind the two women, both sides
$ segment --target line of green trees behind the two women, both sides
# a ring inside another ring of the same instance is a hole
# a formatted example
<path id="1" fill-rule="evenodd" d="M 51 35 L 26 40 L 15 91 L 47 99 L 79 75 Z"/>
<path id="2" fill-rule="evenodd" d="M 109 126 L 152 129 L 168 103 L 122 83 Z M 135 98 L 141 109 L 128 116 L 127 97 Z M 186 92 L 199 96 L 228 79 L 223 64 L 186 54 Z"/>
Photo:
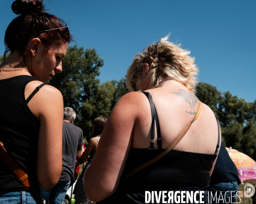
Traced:
<path id="1" fill-rule="evenodd" d="M 74 45 L 62 60 L 63 72 L 49 82 L 61 91 L 64 106 L 76 111 L 75 125 L 81 127 L 87 141 L 93 119 L 100 115 L 108 117 L 119 98 L 128 93 L 125 78 L 100 83 L 99 69 L 103 65 L 104 60 L 94 48 L 84 51 Z M 225 146 L 256 160 L 256 100 L 246 102 L 204 82 L 198 83 L 196 96 L 218 116 Z"/>

